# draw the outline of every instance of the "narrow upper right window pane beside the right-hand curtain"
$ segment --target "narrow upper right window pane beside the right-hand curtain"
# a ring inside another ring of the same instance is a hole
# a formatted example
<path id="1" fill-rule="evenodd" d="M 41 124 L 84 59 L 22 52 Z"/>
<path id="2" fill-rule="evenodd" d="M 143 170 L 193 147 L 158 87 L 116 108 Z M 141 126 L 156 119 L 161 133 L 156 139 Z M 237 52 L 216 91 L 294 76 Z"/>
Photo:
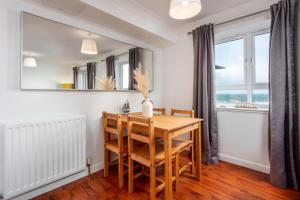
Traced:
<path id="1" fill-rule="evenodd" d="M 255 40 L 255 80 L 256 83 L 269 82 L 269 41 L 270 33 L 256 35 Z"/>

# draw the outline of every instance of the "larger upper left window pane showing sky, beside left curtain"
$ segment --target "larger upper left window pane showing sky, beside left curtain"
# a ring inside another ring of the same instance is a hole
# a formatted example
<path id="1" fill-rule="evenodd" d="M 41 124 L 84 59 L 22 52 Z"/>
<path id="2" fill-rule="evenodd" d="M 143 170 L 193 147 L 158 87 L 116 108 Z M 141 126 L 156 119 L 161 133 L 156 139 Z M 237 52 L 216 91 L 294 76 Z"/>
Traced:
<path id="1" fill-rule="evenodd" d="M 216 45 L 216 85 L 241 85 L 244 77 L 244 39 Z"/>

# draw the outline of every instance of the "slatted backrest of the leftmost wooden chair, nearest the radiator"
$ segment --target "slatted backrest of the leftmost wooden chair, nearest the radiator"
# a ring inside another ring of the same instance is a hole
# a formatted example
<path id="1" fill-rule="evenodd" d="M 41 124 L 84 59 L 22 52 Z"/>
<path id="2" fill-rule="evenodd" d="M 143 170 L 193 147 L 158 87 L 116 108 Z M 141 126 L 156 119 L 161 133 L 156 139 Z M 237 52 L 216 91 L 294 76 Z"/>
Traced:
<path id="1" fill-rule="evenodd" d="M 122 150 L 123 132 L 121 115 L 103 112 L 102 122 L 104 130 L 104 143 L 108 143 L 110 141 L 110 136 L 115 135 L 118 138 L 119 150 Z"/>

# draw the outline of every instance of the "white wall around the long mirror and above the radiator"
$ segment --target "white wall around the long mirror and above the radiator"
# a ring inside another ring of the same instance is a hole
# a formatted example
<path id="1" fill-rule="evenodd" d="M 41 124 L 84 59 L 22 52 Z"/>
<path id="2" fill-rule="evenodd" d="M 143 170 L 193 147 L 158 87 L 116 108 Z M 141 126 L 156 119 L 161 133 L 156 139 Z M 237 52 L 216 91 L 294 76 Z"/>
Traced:
<path id="1" fill-rule="evenodd" d="M 78 25 L 92 32 L 105 34 L 110 32 L 105 27 L 64 16 L 44 8 L 22 4 L 17 0 L 0 2 L 0 119 L 9 116 L 51 115 L 57 113 L 83 113 L 87 117 L 87 156 L 92 158 L 94 167 L 99 168 L 103 162 L 103 134 L 100 117 L 103 111 L 116 112 L 117 107 L 126 99 L 134 111 L 141 110 L 142 95 L 135 92 L 50 92 L 21 91 L 20 82 L 20 10 L 60 20 L 70 25 Z M 155 84 L 161 85 L 162 57 L 161 51 L 142 41 L 126 37 L 111 31 L 112 36 L 120 35 L 118 40 L 136 46 L 154 50 Z M 156 87 L 151 99 L 159 106 L 162 89 Z"/>

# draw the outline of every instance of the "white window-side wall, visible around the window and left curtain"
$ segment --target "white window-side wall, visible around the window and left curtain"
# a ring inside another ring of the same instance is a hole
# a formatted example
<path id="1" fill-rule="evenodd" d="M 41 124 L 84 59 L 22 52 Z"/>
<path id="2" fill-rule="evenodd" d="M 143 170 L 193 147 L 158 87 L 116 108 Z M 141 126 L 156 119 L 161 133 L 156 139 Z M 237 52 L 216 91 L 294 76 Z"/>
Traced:
<path id="1" fill-rule="evenodd" d="M 258 29 L 264 28 L 268 24 L 267 18 L 263 14 L 251 20 L 218 26 L 216 39 L 240 34 L 253 26 L 257 26 Z M 187 35 L 188 31 L 190 30 L 180 33 L 176 45 L 166 48 L 163 52 L 165 70 L 163 102 L 168 109 L 192 108 L 194 57 L 192 36 Z M 218 110 L 220 158 L 268 173 L 267 116 L 265 112 Z"/>

